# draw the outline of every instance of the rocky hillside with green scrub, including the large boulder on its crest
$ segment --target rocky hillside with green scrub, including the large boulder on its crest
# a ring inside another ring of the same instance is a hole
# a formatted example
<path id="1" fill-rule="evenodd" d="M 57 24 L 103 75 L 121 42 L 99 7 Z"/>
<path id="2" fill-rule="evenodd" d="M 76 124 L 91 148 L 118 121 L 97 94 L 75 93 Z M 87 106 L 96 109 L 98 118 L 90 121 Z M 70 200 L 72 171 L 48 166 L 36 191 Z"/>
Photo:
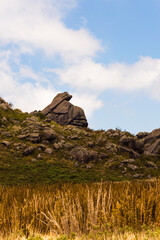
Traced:
<path id="1" fill-rule="evenodd" d="M 86 127 L 84 111 L 69 103 L 67 93 L 63 96 L 56 105 L 53 101 L 42 112 L 30 114 L 13 110 L 0 98 L 1 184 L 160 175 L 160 129 L 136 136 L 119 129 L 94 131 Z"/>

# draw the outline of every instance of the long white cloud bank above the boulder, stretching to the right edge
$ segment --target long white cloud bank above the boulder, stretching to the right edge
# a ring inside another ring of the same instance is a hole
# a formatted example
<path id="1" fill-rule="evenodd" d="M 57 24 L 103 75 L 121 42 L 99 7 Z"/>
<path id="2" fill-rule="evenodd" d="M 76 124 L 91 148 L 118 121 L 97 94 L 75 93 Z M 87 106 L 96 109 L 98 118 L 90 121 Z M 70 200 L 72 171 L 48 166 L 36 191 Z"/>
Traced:
<path id="1" fill-rule="evenodd" d="M 100 93 L 107 89 L 150 91 L 160 82 L 160 59 L 141 57 L 134 64 L 112 63 L 107 66 L 85 59 L 81 64 L 53 70 L 63 83 L 81 91 Z"/>

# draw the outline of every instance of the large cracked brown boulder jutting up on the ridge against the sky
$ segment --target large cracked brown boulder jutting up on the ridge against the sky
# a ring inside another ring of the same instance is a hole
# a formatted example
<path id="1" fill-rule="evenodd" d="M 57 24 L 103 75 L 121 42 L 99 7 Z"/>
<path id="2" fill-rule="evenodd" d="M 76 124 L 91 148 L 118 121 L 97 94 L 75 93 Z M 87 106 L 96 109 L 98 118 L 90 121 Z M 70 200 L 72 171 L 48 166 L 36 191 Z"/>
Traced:
<path id="1" fill-rule="evenodd" d="M 55 121 L 60 125 L 75 125 L 87 127 L 87 119 L 82 108 L 74 106 L 69 101 L 72 95 L 67 92 L 59 93 L 51 104 L 42 110 L 50 121 Z"/>

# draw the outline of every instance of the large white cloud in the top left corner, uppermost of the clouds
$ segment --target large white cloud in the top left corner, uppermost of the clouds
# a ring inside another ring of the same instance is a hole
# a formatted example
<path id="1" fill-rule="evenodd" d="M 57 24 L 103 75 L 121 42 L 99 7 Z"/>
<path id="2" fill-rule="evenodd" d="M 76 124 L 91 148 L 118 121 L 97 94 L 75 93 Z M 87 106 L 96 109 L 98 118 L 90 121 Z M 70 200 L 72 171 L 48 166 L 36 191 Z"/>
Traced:
<path id="1" fill-rule="evenodd" d="M 57 3 L 58 2 L 58 3 Z M 94 56 L 99 41 L 86 29 L 67 28 L 62 21 L 64 9 L 74 0 L 5 0 L 0 2 L 0 42 L 60 54 L 65 61 Z"/>

